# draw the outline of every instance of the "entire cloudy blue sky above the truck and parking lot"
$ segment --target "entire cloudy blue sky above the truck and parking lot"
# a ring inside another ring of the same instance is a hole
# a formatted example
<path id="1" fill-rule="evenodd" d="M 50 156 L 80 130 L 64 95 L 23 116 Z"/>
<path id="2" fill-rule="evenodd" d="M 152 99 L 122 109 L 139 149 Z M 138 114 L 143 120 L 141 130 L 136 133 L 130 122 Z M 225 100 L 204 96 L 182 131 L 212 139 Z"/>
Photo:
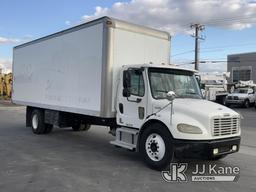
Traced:
<path id="1" fill-rule="evenodd" d="M 206 39 L 201 42 L 200 53 L 202 60 L 226 60 L 227 54 L 256 52 L 255 1 L 225 2 L 227 1 L 1 0 L 0 64 L 2 62 L 2 65 L 10 67 L 14 45 L 103 15 L 169 31 L 173 35 L 171 61 L 179 64 L 194 59 L 194 39 L 190 35 L 192 31 L 187 30 L 189 23 L 195 22 L 205 24 L 202 35 Z M 246 19 L 247 16 L 244 18 L 244 15 L 250 15 L 249 19 Z M 222 18 L 228 21 L 219 21 Z M 207 24 L 215 19 L 218 19 L 217 23 Z M 225 62 L 201 65 L 204 71 L 223 71 L 225 68 Z"/>

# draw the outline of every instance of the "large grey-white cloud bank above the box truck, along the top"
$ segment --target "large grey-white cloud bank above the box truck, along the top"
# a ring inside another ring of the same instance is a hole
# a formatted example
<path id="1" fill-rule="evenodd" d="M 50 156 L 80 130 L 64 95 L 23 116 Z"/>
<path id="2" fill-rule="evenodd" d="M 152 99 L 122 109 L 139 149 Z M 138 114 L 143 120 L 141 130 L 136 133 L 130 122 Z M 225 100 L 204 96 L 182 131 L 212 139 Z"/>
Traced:
<path id="1" fill-rule="evenodd" d="M 256 23 L 256 4 L 248 0 L 131 0 L 111 7 L 96 7 L 82 22 L 101 16 L 112 16 L 134 23 L 185 32 L 191 23 L 229 29 L 244 29 Z M 241 19 L 242 18 L 242 19 Z"/>

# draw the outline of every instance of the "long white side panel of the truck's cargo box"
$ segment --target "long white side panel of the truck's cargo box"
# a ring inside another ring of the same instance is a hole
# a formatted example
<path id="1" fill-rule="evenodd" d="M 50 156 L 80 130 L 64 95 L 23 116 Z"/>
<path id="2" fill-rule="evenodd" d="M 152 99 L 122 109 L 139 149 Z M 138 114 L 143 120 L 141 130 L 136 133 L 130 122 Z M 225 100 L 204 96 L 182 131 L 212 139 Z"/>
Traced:
<path id="1" fill-rule="evenodd" d="M 103 23 L 14 49 L 14 103 L 99 116 Z"/>

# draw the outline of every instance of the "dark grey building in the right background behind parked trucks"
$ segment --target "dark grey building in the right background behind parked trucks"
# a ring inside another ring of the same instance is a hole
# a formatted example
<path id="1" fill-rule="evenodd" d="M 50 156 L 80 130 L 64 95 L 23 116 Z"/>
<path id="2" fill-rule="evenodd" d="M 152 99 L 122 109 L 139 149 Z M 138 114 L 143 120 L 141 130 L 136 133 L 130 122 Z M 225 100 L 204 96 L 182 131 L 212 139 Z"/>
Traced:
<path id="1" fill-rule="evenodd" d="M 229 83 L 239 80 L 256 82 L 256 52 L 228 55 L 227 71 L 230 72 Z"/>

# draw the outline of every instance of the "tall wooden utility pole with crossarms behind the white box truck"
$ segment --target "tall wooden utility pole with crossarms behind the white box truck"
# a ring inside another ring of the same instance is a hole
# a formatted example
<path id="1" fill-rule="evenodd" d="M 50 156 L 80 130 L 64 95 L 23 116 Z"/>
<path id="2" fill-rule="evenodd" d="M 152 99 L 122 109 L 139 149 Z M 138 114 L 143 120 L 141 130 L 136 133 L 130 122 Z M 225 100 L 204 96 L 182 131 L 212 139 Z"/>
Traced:
<path id="1" fill-rule="evenodd" d="M 192 37 L 195 38 L 195 70 L 199 69 L 199 40 L 204 40 L 202 36 L 199 36 L 200 31 L 204 30 L 204 25 L 192 24 L 190 26 L 192 29 L 195 29 L 195 34 Z"/>

